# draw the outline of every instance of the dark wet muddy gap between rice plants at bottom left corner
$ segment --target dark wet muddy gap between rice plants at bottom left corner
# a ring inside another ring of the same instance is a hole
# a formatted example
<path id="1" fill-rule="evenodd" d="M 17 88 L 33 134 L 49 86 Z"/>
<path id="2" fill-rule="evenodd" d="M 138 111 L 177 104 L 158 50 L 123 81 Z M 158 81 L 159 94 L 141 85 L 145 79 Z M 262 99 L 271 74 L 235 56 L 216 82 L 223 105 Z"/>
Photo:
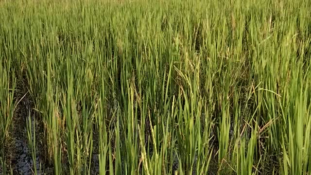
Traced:
<path id="1" fill-rule="evenodd" d="M 27 136 L 27 121 L 28 117 L 30 117 L 32 123 L 32 133 L 39 131 L 37 128 L 38 121 L 35 119 L 35 112 L 32 110 L 32 103 L 29 100 L 29 97 L 25 96 L 24 98 L 20 98 L 21 101 L 17 105 L 17 109 L 14 115 L 14 132 L 12 133 L 14 147 L 11 148 L 12 155 L 14 157 L 11 158 L 10 164 L 13 169 L 14 175 L 33 175 L 35 171 L 38 175 L 46 174 L 52 175 L 51 167 L 45 165 L 42 154 L 40 154 L 39 144 L 35 145 L 35 160 L 32 157 L 32 150 L 30 148 L 28 136 Z M 35 133 L 39 135 L 40 133 Z M 33 138 L 32 138 L 32 141 Z M 36 138 L 36 143 L 39 140 Z"/>

